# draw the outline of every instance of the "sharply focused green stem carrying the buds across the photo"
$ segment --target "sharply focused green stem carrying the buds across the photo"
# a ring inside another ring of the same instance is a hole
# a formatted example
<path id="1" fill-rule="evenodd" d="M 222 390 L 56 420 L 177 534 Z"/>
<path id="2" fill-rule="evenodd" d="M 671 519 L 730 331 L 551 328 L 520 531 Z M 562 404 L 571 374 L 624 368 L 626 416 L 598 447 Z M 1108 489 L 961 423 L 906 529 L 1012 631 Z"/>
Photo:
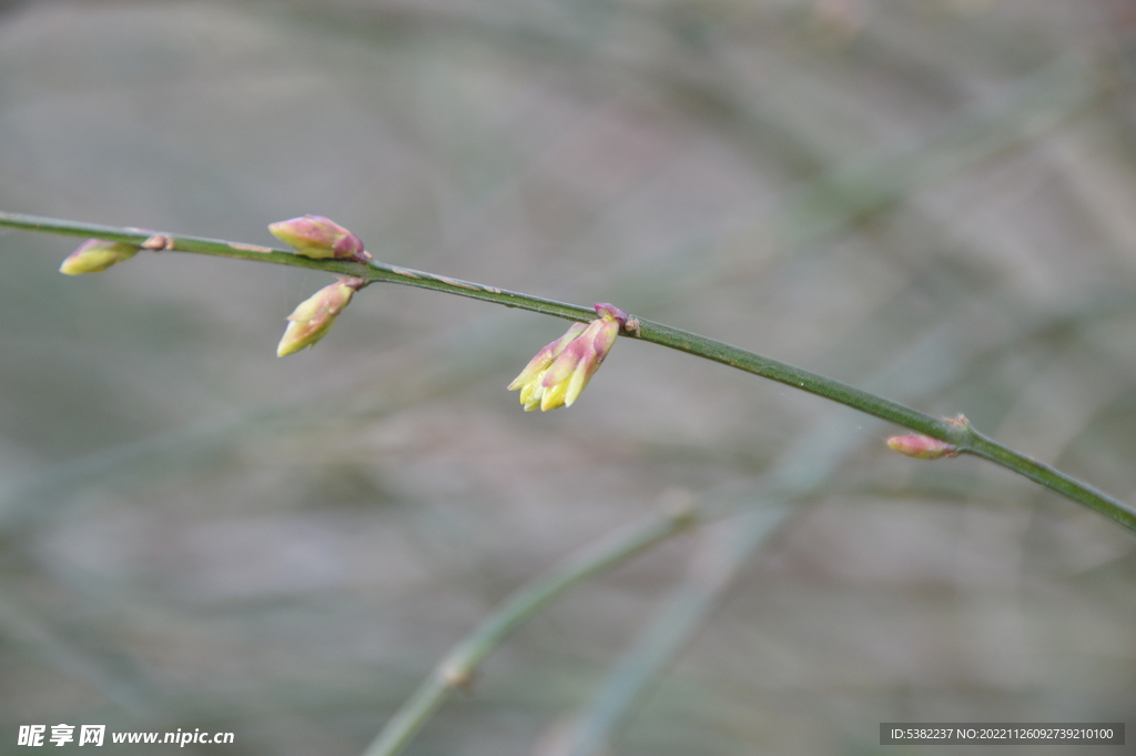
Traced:
<path id="1" fill-rule="evenodd" d="M 484 284 L 460 281 L 423 271 L 412 271 L 384 263 L 371 261 L 369 265 L 365 265 L 348 260 L 317 260 L 268 247 L 165 232 L 159 238 L 158 232 L 143 229 L 58 221 L 16 213 L 0 211 L 0 226 L 73 236 L 93 236 L 140 247 L 159 246 L 164 251 L 185 251 L 200 255 L 235 257 L 261 263 L 327 271 L 329 273 L 361 277 L 368 283 L 400 283 L 431 289 L 504 305 L 506 307 L 517 307 L 543 315 L 552 315 L 569 321 L 586 322 L 595 317 L 592 309 L 580 307 L 579 305 L 542 299 L 540 297 L 506 291 Z M 160 243 L 156 244 L 156 239 Z M 1133 509 L 1129 505 L 983 435 L 975 431 L 967 422 L 933 417 L 889 399 L 877 397 L 840 381 L 825 377 L 824 375 L 669 325 L 642 318 L 638 318 L 637 322 L 638 327 L 634 333 L 625 332 L 623 335 L 670 347 L 671 349 L 685 351 L 705 359 L 712 359 L 724 365 L 729 365 L 730 367 L 736 367 L 737 369 L 753 373 L 754 375 L 760 375 L 795 389 L 825 397 L 826 399 L 832 399 L 868 415 L 946 441 L 954 445 L 960 454 L 971 454 L 1011 470 L 1050 490 L 1056 491 L 1061 496 L 1095 509 L 1104 516 L 1117 521 L 1128 530 L 1136 532 L 1136 509 Z"/>

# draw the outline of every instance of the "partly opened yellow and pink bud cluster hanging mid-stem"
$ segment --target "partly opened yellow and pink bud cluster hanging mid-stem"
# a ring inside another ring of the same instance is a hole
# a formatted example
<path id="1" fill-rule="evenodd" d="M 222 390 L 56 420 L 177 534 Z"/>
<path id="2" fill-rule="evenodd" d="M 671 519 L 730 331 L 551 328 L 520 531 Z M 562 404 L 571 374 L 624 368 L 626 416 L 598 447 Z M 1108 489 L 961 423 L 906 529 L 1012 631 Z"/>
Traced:
<path id="1" fill-rule="evenodd" d="M 616 343 L 627 313 L 613 305 L 593 305 L 600 316 L 591 323 L 576 323 L 528 363 L 509 390 L 520 390 L 525 412 L 570 407 L 587 382 L 600 369 Z"/>

